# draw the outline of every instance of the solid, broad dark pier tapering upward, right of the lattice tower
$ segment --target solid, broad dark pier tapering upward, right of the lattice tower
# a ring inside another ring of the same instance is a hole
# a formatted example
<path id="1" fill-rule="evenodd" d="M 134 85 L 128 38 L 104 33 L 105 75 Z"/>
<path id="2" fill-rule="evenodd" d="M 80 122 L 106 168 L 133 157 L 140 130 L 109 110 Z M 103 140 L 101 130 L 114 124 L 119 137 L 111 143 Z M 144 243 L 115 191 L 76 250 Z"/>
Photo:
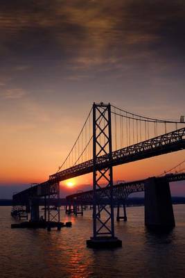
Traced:
<path id="1" fill-rule="evenodd" d="M 148 229 L 175 227 L 170 186 L 166 178 L 149 178 L 145 183 L 145 224 Z"/>

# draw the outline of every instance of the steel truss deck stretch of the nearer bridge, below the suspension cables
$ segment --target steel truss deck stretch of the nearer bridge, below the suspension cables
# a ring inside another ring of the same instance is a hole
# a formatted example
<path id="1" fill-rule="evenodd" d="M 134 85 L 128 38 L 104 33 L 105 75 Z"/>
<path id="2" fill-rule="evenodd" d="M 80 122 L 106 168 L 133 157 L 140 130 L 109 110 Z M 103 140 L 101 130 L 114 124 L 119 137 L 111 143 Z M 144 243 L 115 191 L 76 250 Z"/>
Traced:
<path id="1" fill-rule="evenodd" d="M 109 154 L 99 156 L 96 159 L 96 165 L 98 170 L 102 170 L 109 166 L 139 161 L 152 156 L 177 152 L 181 149 L 185 149 L 185 128 L 177 129 L 123 149 L 118 149 L 112 152 L 111 159 L 109 159 Z M 93 172 L 93 159 L 53 174 L 50 176 L 50 180 L 64 181 L 65 179 L 71 179 L 72 177 L 78 177 L 90 172 Z"/>

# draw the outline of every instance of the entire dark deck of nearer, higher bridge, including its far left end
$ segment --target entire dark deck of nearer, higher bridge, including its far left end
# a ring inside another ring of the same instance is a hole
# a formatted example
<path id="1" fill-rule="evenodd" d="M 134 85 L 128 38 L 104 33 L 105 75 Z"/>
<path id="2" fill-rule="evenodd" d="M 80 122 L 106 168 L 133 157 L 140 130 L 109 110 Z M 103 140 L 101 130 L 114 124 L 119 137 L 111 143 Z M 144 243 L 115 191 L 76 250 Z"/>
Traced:
<path id="1" fill-rule="evenodd" d="M 97 167 L 101 170 L 108 167 L 109 163 L 116 166 L 144 158 L 159 156 L 161 154 L 168 154 L 169 152 L 177 152 L 181 149 L 185 149 L 185 128 L 177 129 L 123 149 L 118 149 L 118 151 L 112 152 L 111 161 L 109 161 L 107 155 L 99 156 L 96 160 Z M 21 191 L 20 193 L 15 194 L 13 199 L 15 199 L 15 202 L 22 204 L 32 196 L 48 196 L 50 192 L 53 194 L 53 183 L 58 183 L 59 181 L 78 177 L 90 172 L 93 172 L 93 160 L 86 161 L 85 163 L 81 163 L 70 167 L 67 170 L 58 172 L 57 174 L 53 174 L 50 176 L 49 181 L 39 183 L 37 186 Z"/>

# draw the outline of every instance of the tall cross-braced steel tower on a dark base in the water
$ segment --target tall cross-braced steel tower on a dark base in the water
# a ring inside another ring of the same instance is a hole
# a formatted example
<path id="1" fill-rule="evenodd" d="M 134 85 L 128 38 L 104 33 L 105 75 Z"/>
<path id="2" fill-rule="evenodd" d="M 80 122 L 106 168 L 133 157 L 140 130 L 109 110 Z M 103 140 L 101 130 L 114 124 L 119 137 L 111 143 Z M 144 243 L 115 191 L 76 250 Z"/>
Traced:
<path id="1" fill-rule="evenodd" d="M 100 157 L 101 156 L 101 157 Z M 102 156 L 109 158 L 109 165 L 102 164 Z M 87 247 L 121 247 L 114 236 L 114 200 L 112 173 L 112 128 L 110 104 L 93 104 L 93 237 Z M 98 189 L 107 188 L 107 197 L 100 197 Z M 100 210 L 98 210 L 100 206 Z M 100 214 L 103 215 L 100 218 Z"/>

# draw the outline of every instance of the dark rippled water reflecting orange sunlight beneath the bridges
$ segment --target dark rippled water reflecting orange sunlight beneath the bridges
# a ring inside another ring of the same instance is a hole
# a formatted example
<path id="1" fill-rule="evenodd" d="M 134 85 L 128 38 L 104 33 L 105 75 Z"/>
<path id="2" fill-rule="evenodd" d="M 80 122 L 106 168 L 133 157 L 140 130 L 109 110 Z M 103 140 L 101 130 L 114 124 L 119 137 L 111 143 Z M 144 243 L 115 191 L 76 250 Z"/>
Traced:
<path id="1" fill-rule="evenodd" d="M 10 207 L 0 207 L 0 277 L 185 277 L 185 205 L 174 206 L 176 227 L 168 236 L 144 228 L 143 207 L 127 208 L 128 221 L 116 222 L 123 247 L 87 249 L 91 211 L 67 216 L 61 231 L 10 229 Z"/>

